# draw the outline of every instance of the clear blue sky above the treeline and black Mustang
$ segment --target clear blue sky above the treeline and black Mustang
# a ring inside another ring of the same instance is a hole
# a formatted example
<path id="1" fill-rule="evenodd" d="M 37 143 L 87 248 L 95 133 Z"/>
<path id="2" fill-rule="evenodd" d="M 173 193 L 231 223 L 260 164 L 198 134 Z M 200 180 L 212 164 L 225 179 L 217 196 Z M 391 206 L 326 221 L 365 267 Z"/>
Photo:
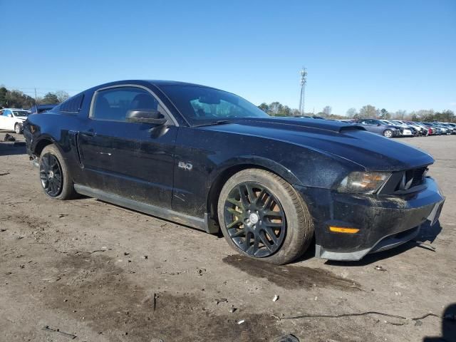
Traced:
<path id="1" fill-rule="evenodd" d="M 456 111 L 456 1 L 0 0 L 0 84 L 213 86 L 306 112 Z"/>

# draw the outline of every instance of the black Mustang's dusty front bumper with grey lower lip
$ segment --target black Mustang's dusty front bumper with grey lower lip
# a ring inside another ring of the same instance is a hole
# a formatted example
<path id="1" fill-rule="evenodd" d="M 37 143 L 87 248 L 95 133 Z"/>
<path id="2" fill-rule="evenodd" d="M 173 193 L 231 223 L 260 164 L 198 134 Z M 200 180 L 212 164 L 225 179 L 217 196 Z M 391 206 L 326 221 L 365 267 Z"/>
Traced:
<path id="1" fill-rule="evenodd" d="M 413 194 L 381 197 L 296 187 L 314 217 L 316 257 L 356 261 L 410 241 L 418 235 L 421 224 L 437 222 L 445 202 L 432 178 L 425 178 L 425 186 Z M 359 231 L 331 232 L 331 226 Z"/>

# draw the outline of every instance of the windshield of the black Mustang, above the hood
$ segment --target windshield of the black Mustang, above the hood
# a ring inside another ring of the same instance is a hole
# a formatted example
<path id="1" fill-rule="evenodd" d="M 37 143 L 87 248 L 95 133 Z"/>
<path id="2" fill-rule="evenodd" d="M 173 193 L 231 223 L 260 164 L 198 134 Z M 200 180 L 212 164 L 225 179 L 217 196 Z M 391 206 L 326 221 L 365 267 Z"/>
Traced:
<path id="1" fill-rule="evenodd" d="M 256 105 L 226 91 L 202 86 L 161 86 L 192 125 L 229 118 L 268 118 Z"/>

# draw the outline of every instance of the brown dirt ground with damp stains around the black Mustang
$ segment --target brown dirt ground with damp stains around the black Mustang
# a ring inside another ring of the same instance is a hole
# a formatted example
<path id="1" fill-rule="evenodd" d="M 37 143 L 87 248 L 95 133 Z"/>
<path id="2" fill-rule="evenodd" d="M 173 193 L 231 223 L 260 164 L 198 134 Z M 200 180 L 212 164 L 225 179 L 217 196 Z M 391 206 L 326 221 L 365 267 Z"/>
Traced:
<path id="1" fill-rule="evenodd" d="M 435 157 L 447 199 L 422 237 L 435 251 L 343 263 L 312 249 L 287 266 L 96 199 L 48 199 L 25 147 L 0 143 L 0 341 L 456 341 L 436 317 L 456 304 L 456 136 L 398 141 Z"/>

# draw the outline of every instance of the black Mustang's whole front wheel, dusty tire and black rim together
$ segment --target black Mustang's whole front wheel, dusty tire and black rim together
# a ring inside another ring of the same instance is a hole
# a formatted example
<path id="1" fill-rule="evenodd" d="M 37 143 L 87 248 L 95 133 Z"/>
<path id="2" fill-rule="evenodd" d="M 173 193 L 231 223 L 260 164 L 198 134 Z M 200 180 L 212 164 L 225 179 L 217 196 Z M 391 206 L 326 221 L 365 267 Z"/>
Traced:
<path id="1" fill-rule="evenodd" d="M 220 192 L 217 214 L 222 233 L 234 250 L 271 264 L 299 258 L 314 236 L 314 222 L 304 200 L 288 182 L 266 170 L 242 170 L 229 178 Z"/>

